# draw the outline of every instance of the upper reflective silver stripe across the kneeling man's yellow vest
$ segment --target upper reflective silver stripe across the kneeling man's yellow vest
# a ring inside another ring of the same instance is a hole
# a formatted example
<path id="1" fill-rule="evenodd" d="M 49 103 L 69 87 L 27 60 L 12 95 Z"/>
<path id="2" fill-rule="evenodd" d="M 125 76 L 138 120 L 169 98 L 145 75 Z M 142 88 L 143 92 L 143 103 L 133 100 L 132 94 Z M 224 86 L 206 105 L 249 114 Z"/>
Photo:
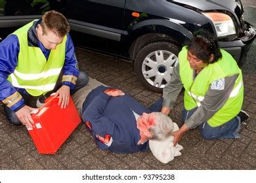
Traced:
<path id="1" fill-rule="evenodd" d="M 47 78 L 49 76 L 54 76 L 54 75 L 58 75 L 60 74 L 62 68 L 58 68 L 58 69 L 49 69 L 49 71 L 46 72 L 42 72 L 39 74 L 24 74 L 24 73 L 20 73 L 19 71 L 15 70 L 14 74 L 17 75 L 19 78 L 21 78 L 22 80 L 37 80 L 39 78 Z M 13 75 L 13 74 L 11 74 Z"/>

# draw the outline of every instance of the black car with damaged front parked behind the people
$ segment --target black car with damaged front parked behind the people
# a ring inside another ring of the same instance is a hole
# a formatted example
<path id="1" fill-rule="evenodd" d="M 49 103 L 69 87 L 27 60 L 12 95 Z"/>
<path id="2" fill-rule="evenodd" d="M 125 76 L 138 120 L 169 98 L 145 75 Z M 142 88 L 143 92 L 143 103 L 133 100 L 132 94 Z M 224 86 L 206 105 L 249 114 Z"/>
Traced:
<path id="1" fill-rule="evenodd" d="M 182 44 L 207 29 L 236 61 L 243 61 L 255 29 L 243 19 L 240 0 L 0 0 L 0 37 L 47 10 L 62 12 L 79 46 L 134 62 L 141 84 L 161 92 Z"/>

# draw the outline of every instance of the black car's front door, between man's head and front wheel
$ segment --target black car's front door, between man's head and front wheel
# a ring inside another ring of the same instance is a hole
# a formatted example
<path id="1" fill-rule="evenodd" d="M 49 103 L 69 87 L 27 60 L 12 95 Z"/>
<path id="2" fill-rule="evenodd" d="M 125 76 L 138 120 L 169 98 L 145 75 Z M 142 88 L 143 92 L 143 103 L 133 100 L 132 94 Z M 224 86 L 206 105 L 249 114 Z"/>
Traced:
<path id="1" fill-rule="evenodd" d="M 67 0 L 72 30 L 120 41 L 125 0 Z"/>

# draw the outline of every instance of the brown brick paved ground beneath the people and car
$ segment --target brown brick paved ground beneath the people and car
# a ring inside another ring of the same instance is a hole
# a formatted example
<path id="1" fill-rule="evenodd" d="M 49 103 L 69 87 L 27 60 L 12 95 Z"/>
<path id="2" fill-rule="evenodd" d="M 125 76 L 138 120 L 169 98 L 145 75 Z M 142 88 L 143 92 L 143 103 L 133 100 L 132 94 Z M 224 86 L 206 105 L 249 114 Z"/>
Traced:
<path id="1" fill-rule="evenodd" d="M 129 93 L 143 105 L 151 105 L 161 95 L 140 86 L 133 65 L 77 48 L 80 70 L 104 84 Z M 156 160 L 150 150 L 144 153 L 115 154 L 99 150 L 80 124 L 60 150 L 40 155 L 26 127 L 7 123 L 0 108 L 0 169 L 256 169 L 256 76 L 244 73 L 243 109 L 250 114 L 242 126 L 242 139 L 205 141 L 198 129 L 190 130 L 181 141 L 182 156 L 167 164 Z M 181 126 L 182 95 L 171 118 Z"/>

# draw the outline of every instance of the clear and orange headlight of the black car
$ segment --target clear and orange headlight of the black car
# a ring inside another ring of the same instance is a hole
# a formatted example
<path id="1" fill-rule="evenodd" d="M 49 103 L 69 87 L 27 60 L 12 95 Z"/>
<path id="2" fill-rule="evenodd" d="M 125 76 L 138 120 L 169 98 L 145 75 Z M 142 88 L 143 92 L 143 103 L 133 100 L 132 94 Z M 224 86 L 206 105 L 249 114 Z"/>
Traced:
<path id="1" fill-rule="evenodd" d="M 203 14 L 215 25 L 217 37 L 236 34 L 234 22 L 227 14 L 221 12 L 204 12 Z"/>

